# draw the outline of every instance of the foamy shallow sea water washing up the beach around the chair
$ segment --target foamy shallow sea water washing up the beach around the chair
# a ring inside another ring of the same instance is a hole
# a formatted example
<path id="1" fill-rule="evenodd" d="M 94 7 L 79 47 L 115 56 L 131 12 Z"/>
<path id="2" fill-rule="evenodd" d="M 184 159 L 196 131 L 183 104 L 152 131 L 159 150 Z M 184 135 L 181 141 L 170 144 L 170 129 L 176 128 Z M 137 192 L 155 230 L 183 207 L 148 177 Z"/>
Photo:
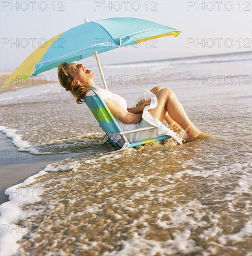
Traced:
<path id="1" fill-rule="evenodd" d="M 57 82 L 2 94 L 1 131 L 21 151 L 76 155 L 6 190 L 1 254 L 250 256 L 251 56 L 104 66 L 108 88 L 128 105 L 142 88 L 171 88 L 215 137 L 182 145 L 100 144 L 88 108 Z"/>

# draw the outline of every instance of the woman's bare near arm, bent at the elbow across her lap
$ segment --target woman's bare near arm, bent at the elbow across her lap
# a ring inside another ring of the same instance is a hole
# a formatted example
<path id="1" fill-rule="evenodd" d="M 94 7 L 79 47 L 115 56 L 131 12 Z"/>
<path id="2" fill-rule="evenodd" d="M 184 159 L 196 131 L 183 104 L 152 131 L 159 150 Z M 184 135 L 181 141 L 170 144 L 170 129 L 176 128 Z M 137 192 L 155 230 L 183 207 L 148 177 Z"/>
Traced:
<path id="1" fill-rule="evenodd" d="M 126 124 L 138 123 L 142 120 L 142 113 L 134 114 L 127 112 L 116 101 L 108 99 L 106 105 L 109 108 L 111 114 L 118 118 L 120 121 Z"/>

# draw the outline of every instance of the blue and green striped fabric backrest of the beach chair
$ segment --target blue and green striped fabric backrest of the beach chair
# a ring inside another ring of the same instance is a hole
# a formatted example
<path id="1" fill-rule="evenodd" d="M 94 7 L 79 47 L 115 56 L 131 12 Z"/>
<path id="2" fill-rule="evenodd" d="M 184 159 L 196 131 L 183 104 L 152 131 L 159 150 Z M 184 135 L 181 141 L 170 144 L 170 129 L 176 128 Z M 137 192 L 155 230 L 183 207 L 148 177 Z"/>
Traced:
<path id="1" fill-rule="evenodd" d="M 95 119 L 99 122 L 102 130 L 106 133 L 121 132 L 121 128 L 119 127 L 117 121 L 114 119 L 103 99 L 100 97 L 97 89 L 90 87 L 85 88 L 84 90 L 92 90 L 95 93 L 95 95 L 85 95 L 83 100 L 86 102 L 87 107 L 93 113 Z"/>

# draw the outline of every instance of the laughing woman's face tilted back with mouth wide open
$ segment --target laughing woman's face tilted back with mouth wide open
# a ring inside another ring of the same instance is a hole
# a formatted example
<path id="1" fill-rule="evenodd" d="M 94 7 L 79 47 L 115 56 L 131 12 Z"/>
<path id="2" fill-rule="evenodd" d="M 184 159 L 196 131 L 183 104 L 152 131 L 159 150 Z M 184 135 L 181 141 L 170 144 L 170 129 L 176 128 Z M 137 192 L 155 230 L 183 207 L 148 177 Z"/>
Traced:
<path id="1" fill-rule="evenodd" d="M 74 86 L 85 86 L 86 83 L 93 82 L 94 72 L 82 64 L 68 64 L 66 66 L 66 72 L 74 78 L 72 82 Z"/>

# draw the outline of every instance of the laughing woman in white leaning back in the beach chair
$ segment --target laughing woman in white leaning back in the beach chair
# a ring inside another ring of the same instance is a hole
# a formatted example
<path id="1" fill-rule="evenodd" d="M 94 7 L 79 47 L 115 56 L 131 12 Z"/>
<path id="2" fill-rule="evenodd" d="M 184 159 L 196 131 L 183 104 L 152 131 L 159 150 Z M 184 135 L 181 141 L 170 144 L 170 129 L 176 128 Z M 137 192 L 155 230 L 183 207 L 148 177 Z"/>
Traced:
<path id="1" fill-rule="evenodd" d="M 99 90 L 101 97 L 105 100 L 105 103 L 112 115 L 119 120 L 119 126 L 122 130 L 129 130 L 133 128 L 141 128 L 151 126 L 145 120 L 142 120 L 143 109 L 151 104 L 151 100 L 148 101 L 139 101 L 136 107 L 127 108 L 126 100 L 120 97 L 117 94 L 98 88 L 94 82 L 94 72 L 88 70 L 84 65 L 77 63 L 60 63 L 58 67 L 58 77 L 60 84 L 70 91 L 73 96 L 76 98 L 76 102 L 81 104 L 83 95 L 89 94 L 89 91 L 82 92 L 82 88 L 87 88 L 90 86 L 96 87 Z M 153 94 L 156 94 L 157 97 L 157 107 L 149 109 L 149 113 L 153 116 L 154 119 L 157 119 L 161 122 L 164 119 L 169 124 L 169 128 L 173 131 L 185 130 L 187 134 L 187 141 L 193 141 L 198 138 L 211 138 L 211 135 L 201 132 L 194 124 L 189 120 L 186 115 L 186 111 L 183 106 L 177 99 L 176 95 L 169 88 L 162 88 L 160 86 L 154 87 L 150 90 Z M 127 110 L 127 111 L 126 111 Z M 126 115 L 125 115 L 126 114 Z M 118 142 L 120 146 L 123 145 L 122 139 L 118 134 L 109 134 L 113 141 Z M 161 135 L 158 135 L 157 129 L 153 129 L 145 132 L 133 133 L 127 135 L 127 139 L 130 143 L 136 141 L 142 141 L 146 139 L 155 138 Z"/>

